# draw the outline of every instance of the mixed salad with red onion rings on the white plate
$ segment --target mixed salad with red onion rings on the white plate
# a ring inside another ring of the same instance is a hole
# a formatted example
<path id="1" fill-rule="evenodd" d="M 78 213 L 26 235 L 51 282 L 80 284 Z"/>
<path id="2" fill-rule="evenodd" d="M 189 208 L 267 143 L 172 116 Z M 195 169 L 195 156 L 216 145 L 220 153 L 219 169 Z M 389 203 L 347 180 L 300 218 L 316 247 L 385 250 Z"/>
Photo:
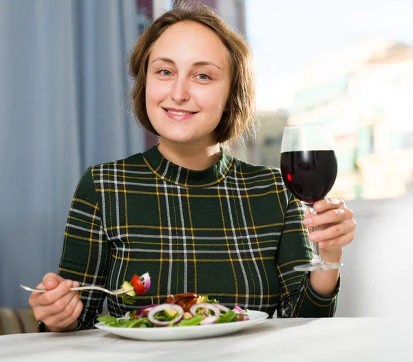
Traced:
<path id="1" fill-rule="evenodd" d="M 103 322 L 104 326 L 117 328 L 202 326 L 246 320 L 248 315 L 239 306 L 229 309 L 220 305 L 215 299 L 208 299 L 195 293 L 169 295 L 164 304 L 150 304 L 133 312 L 127 312 L 119 319 L 110 315 L 98 317 L 98 321 Z"/>

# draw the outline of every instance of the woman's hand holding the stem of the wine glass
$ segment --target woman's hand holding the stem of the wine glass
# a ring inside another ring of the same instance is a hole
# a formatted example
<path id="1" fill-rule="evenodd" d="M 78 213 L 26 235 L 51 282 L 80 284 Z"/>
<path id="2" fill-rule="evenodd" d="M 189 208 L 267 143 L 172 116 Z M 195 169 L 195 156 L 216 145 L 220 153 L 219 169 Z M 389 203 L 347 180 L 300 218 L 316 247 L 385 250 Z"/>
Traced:
<path id="1" fill-rule="evenodd" d="M 354 238 L 356 223 L 353 212 L 346 207 L 343 200 L 334 198 L 315 202 L 314 209 L 317 215 L 310 215 L 308 209 L 306 210 L 304 225 L 308 226 L 310 231 L 315 226 L 318 230 L 310 232 L 308 239 L 310 242 L 319 242 L 322 254 L 341 254 L 343 246 L 350 244 Z"/>

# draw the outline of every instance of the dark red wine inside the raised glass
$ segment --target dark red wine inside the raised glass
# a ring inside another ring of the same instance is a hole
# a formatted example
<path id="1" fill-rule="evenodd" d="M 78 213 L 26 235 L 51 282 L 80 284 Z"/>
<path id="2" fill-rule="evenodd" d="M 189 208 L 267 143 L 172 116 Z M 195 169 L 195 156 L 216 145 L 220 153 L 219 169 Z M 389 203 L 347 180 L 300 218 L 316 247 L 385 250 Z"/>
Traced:
<path id="1" fill-rule="evenodd" d="M 313 204 L 326 197 L 337 176 L 334 151 L 293 151 L 281 154 L 286 187 L 301 201 Z"/>

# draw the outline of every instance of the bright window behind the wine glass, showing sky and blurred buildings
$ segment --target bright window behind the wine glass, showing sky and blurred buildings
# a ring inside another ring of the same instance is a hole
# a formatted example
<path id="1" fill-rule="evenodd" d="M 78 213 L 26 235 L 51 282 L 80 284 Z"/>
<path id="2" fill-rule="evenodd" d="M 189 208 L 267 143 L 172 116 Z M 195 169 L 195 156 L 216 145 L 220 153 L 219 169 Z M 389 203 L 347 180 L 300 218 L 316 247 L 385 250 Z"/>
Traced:
<path id="1" fill-rule="evenodd" d="M 329 125 L 339 166 L 332 196 L 413 193 L 412 6 L 246 0 L 258 108 L 285 110 L 288 125 Z M 271 161 L 267 153 L 281 143 L 276 125 L 259 129 L 250 162 Z"/>

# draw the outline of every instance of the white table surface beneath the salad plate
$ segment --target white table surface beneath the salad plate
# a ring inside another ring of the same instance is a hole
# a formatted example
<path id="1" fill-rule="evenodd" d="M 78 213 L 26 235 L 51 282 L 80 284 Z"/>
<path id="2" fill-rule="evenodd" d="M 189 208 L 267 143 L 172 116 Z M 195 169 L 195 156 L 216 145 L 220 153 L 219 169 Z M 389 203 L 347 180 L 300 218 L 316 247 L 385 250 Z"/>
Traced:
<path id="1" fill-rule="evenodd" d="M 146 342 L 101 330 L 0 337 L 0 361 L 413 361 L 412 324 L 373 318 L 268 319 L 225 337 Z"/>

